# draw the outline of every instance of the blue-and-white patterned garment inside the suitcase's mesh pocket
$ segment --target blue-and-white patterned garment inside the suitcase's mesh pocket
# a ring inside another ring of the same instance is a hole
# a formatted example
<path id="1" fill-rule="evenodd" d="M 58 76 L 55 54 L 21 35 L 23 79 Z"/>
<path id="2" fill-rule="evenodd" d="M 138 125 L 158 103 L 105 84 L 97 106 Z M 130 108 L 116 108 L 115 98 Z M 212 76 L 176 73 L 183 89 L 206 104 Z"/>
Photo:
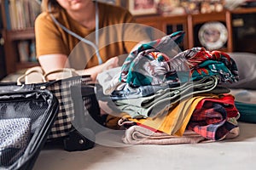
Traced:
<path id="1" fill-rule="evenodd" d="M 17 161 L 30 140 L 31 119 L 14 118 L 0 120 L 0 167 Z"/>

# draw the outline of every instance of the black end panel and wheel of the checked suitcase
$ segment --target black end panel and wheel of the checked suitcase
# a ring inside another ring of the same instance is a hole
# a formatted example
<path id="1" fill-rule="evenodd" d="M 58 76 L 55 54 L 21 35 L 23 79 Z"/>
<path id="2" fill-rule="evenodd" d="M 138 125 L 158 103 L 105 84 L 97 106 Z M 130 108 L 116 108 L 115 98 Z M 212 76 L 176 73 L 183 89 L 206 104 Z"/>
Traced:
<path id="1" fill-rule="evenodd" d="M 56 139 L 56 141 L 59 144 L 63 144 L 64 150 L 67 151 L 89 150 L 94 147 L 95 135 L 100 131 L 96 125 L 102 124 L 103 122 L 100 116 L 100 107 L 96 99 L 95 86 L 73 86 L 70 90 L 75 111 L 72 122 L 73 128 L 68 136 Z M 81 97 L 81 94 L 83 97 Z M 90 100 L 90 105 L 84 105 L 84 101 L 88 99 Z"/>

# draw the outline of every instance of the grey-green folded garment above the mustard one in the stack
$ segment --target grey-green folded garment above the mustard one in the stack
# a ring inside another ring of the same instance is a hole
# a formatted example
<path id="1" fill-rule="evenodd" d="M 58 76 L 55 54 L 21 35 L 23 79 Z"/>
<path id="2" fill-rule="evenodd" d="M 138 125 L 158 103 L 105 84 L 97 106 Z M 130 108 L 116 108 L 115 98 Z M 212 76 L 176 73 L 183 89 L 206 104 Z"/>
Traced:
<path id="1" fill-rule="evenodd" d="M 119 99 L 114 101 L 120 111 L 131 118 L 147 118 L 164 115 L 181 99 L 192 97 L 194 94 L 203 94 L 216 88 L 217 77 L 205 77 L 197 82 L 186 82 L 177 88 L 166 88 L 156 94 L 137 99 Z"/>

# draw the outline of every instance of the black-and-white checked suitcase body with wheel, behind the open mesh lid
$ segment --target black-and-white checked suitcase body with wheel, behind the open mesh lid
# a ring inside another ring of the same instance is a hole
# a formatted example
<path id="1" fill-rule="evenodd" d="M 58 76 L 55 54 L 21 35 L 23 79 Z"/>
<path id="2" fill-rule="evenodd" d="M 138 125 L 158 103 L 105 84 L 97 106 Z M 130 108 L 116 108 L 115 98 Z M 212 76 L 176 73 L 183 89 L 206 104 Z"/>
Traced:
<path id="1" fill-rule="evenodd" d="M 95 133 L 101 131 L 102 127 L 99 125 L 103 124 L 103 120 L 96 99 L 95 85 L 88 84 L 87 81 L 85 83 L 78 81 L 80 81 L 80 77 L 70 77 L 64 81 L 22 85 L 17 85 L 14 82 L 2 82 L 0 83 L 0 93 L 7 89 L 9 91 L 49 90 L 58 100 L 59 110 L 55 122 L 49 130 L 46 144 L 59 144 L 67 151 L 88 150 L 94 147 Z M 58 93 L 52 89 L 53 86 L 59 89 Z M 60 111 L 61 114 L 65 113 L 63 115 L 65 117 L 61 116 Z M 73 114 L 67 115 L 67 111 L 72 111 Z M 55 138 L 52 138 L 53 132 L 56 134 Z"/>

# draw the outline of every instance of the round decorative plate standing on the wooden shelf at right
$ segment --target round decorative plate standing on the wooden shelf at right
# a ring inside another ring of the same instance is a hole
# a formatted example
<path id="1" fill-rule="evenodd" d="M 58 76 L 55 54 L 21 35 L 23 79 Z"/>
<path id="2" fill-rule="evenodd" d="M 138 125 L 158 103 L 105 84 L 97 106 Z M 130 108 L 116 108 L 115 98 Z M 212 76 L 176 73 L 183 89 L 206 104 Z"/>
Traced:
<path id="1" fill-rule="evenodd" d="M 201 26 L 198 37 L 205 48 L 219 49 L 228 41 L 228 30 L 221 22 L 207 22 Z"/>

